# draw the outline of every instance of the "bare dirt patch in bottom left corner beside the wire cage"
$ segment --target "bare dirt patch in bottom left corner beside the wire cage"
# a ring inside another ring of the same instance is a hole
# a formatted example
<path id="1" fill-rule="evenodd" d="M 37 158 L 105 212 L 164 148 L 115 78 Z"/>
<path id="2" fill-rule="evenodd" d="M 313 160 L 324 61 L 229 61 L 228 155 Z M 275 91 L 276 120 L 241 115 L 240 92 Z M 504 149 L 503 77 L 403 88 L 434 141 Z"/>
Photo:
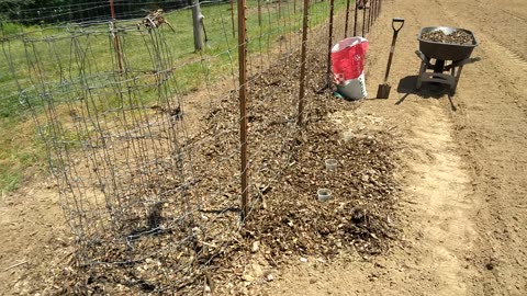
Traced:
<path id="1" fill-rule="evenodd" d="M 32 281 L 47 283 L 42 275 L 72 252 L 53 184 L 38 182 L 1 195 L 0 295 L 30 294 Z"/>

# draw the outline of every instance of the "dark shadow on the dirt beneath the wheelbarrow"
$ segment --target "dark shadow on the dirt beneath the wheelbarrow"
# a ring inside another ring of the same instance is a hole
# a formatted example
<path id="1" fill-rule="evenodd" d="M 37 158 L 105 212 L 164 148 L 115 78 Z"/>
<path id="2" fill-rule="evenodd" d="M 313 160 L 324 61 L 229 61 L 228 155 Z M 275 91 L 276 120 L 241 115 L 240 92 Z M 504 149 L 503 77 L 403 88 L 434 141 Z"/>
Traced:
<path id="1" fill-rule="evenodd" d="M 450 102 L 450 106 L 452 111 L 457 111 L 456 105 L 452 102 L 452 93 L 448 86 L 441 83 L 430 83 L 424 82 L 419 90 L 415 88 L 417 83 L 417 76 L 407 76 L 399 81 L 397 92 L 403 94 L 395 105 L 400 105 L 406 100 L 406 98 L 411 94 L 416 94 L 423 99 L 441 99 L 447 95 L 448 101 Z"/>

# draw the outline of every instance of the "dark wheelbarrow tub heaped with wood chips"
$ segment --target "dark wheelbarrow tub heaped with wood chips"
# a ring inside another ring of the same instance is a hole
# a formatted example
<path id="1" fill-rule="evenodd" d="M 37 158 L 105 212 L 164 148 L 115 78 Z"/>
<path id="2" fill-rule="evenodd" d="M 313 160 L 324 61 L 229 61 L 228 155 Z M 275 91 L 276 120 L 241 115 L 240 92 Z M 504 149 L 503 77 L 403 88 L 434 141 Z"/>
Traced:
<path id="1" fill-rule="evenodd" d="M 456 31 L 463 31 L 472 36 L 473 43 L 470 45 L 449 44 L 440 42 L 430 42 L 422 38 L 423 34 L 442 31 L 449 35 Z M 478 46 L 478 41 L 471 31 L 450 26 L 426 26 L 421 29 L 417 35 L 419 41 L 419 50 L 428 58 L 442 59 L 442 60 L 463 60 L 470 57 L 474 47 Z"/>

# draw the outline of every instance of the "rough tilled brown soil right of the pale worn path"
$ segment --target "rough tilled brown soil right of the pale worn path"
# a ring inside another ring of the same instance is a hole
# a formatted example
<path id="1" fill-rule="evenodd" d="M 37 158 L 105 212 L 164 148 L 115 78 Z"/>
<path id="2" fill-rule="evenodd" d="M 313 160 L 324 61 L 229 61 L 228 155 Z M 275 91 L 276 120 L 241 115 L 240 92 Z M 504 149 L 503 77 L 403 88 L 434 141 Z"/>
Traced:
<path id="1" fill-rule="evenodd" d="M 481 44 L 475 50 L 484 66 L 466 72 L 460 89 L 462 112 L 453 116 L 457 139 L 473 164 L 474 198 L 481 201 L 476 224 L 480 249 L 475 262 L 481 273 L 476 295 L 527 295 L 527 210 L 516 205 L 527 195 L 527 84 L 522 55 L 527 24 L 501 15 L 500 9 L 527 14 L 527 3 L 487 2 L 469 13 L 470 3 L 445 0 L 447 15 L 473 27 Z M 494 13 L 495 18 L 484 18 Z M 524 30 L 522 30 L 524 29 Z M 464 75 L 464 73 L 463 73 Z"/>

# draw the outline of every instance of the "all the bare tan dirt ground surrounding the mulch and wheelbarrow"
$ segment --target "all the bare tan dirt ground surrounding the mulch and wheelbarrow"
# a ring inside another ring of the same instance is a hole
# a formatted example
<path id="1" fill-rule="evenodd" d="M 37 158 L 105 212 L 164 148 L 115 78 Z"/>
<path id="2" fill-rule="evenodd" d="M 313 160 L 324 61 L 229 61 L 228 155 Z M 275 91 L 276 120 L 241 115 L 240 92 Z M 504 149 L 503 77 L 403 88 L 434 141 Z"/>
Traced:
<path id="1" fill-rule="evenodd" d="M 396 175 L 404 184 L 399 248 L 330 262 L 299 258 L 249 293 L 527 295 L 527 2 L 384 1 L 367 36 L 369 98 L 384 75 L 394 16 L 406 23 L 390 99 L 362 100 L 352 114 L 336 118 L 348 118 L 338 121 L 343 134 L 389 130 L 404 143 L 404 170 Z M 480 42 L 473 56 L 482 61 L 464 67 L 452 98 L 434 84 L 413 90 L 416 34 L 427 25 L 468 29 Z M 58 264 L 71 251 L 48 184 L 1 195 L 1 295 L 26 294 L 29 271 L 38 271 L 42 261 Z"/>

